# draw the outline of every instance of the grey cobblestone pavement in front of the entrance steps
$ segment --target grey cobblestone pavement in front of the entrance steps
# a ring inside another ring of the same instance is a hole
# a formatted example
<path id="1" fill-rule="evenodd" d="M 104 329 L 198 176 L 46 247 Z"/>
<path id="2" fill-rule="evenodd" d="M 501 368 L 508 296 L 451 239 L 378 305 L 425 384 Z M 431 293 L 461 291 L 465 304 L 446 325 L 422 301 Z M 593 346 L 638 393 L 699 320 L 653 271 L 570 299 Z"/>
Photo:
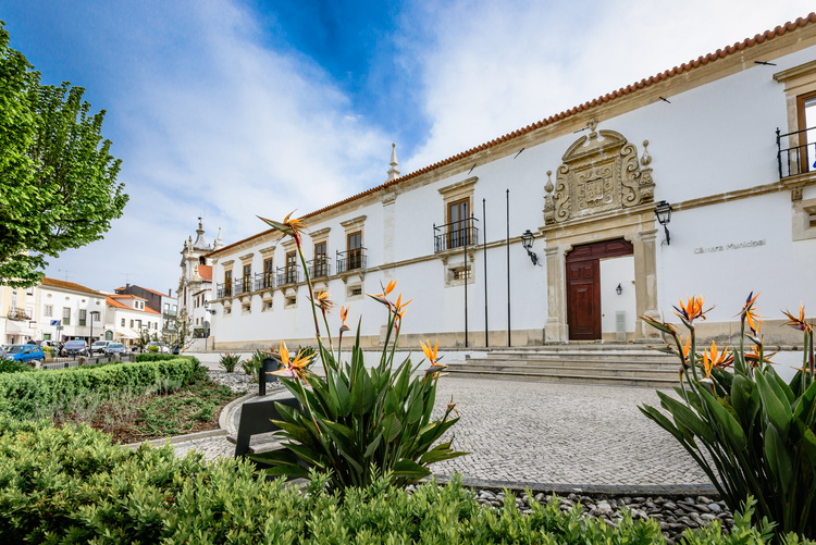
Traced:
<path id="1" fill-rule="evenodd" d="M 673 437 L 638 405 L 659 406 L 653 388 L 489 381 L 445 376 L 437 411 L 454 396 L 461 420 L 454 448 L 468 456 L 433 465 L 437 475 L 459 472 L 481 481 L 574 486 L 709 485 Z M 208 459 L 230 457 L 225 437 L 176 445 Z"/>

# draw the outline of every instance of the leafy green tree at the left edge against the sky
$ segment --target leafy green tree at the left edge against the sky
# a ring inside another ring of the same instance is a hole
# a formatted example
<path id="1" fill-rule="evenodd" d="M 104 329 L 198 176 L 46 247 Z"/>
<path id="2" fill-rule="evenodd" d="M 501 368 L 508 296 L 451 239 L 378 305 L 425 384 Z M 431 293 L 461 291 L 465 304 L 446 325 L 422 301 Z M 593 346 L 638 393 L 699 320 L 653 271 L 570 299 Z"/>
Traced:
<path id="1" fill-rule="evenodd" d="M 127 202 L 104 110 L 85 89 L 40 85 L 0 21 L 0 285 L 37 284 L 48 262 L 102 238 Z"/>

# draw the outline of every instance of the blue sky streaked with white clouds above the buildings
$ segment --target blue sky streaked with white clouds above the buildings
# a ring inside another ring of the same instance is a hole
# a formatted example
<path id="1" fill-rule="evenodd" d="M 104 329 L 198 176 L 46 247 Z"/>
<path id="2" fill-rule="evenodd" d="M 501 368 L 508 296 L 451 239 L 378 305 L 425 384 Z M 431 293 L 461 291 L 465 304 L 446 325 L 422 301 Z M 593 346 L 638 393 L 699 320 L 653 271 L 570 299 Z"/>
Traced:
<path id="1" fill-rule="evenodd" d="M 51 259 L 175 289 L 184 240 L 263 230 L 813 11 L 801 0 L 0 0 L 45 83 L 86 88 L 131 202 Z"/>

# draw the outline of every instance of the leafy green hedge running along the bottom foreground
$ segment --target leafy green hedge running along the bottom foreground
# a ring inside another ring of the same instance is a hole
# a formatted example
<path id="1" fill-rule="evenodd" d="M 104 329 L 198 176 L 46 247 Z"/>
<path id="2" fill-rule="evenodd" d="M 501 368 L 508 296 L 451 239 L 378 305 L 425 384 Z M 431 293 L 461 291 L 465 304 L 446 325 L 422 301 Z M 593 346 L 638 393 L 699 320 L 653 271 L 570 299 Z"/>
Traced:
<path id="1" fill-rule="evenodd" d="M 479 506 L 454 480 L 412 495 L 379 479 L 343 498 L 309 494 L 282 481 L 257 480 L 245 461 L 215 465 L 170 445 L 137 450 L 113 446 L 87 426 L 0 421 L 0 543 L 663 543 L 654 521 L 626 518 L 618 529 L 561 512 L 553 501 L 521 515 L 515 501 L 499 511 Z M 730 535 L 718 522 L 687 534 L 701 545 L 769 543 L 767 524 L 737 515 Z M 793 545 L 800 541 L 789 536 Z M 805 542 L 808 543 L 808 542 Z M 811 542 L 812 543 L 812 542 Z"/>

